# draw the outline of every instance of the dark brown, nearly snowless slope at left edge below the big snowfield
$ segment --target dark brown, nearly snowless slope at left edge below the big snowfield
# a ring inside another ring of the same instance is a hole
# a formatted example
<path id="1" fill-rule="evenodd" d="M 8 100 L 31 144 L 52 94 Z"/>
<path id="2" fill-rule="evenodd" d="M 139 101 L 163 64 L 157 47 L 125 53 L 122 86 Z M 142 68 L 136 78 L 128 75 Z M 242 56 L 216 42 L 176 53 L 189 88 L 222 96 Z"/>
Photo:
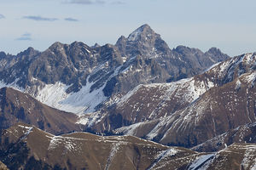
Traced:
<path id="1" fill-rule="evenodd" d="M 29 94 L 13 88 L 0 89 L 0 129 L 26 122 L 49 133 L 68 133 L 82 130 L 77 121 L 77 115 L 44 105 Z"/>

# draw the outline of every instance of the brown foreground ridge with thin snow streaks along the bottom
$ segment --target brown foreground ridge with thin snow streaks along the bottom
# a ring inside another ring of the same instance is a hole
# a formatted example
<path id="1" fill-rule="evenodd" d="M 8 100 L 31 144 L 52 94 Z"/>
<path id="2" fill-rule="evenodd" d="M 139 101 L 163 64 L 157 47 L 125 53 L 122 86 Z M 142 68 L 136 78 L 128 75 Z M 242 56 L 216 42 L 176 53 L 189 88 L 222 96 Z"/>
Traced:
<path id="1" fill-rule="evenodd" d="M 26 124 L 3 130 L 0 160 L 10 169 L 253 169 L 256 145 L 199 153 L 131 136 L 55 136 Z"/>

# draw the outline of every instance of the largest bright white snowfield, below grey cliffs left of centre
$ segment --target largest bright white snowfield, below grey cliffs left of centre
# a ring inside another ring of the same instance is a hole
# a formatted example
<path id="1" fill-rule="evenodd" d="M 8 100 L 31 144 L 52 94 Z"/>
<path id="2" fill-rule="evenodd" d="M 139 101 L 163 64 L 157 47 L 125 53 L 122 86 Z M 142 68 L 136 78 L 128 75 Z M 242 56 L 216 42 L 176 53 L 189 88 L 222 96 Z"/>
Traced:
<path id="1" fill-rule="evenodd" d="M 35 96 L 36 99 L 44 103 L 55 107 L 62 111 L 73 112 L 76 114 L 90 113 L 95 111 L 96 105 L 99 105 L 107 99 L 104 96 L 102 89 L 98 88 L 90 92 L 90 87 L 94 82 L 86 83 L 79 92 L 67 94 L 66 90 L 71 85 L 67 86 L 61 82 L 56 82 L 55 84 L 46 84 L 44 88 L 38 91 Z"/>

